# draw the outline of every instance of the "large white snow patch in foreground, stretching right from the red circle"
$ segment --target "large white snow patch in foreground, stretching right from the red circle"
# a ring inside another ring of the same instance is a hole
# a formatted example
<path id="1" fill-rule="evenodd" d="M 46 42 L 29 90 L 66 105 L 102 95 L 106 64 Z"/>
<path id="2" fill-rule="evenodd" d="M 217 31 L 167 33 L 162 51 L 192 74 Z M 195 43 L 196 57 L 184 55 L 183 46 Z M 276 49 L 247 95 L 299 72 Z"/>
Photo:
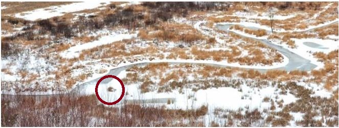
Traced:
<path id="1" fill-rule="evenodd" d="M 122 71 L 117 75 L 120 79 L 126 77 L 126 71 Z M 86 86 L 86 94 L 95 94 L 95 85 Z M 112 87 L 116 92 L 107 91 L 108 87 Z M 292 94 L 279 95 L 277 87 L 252 88 L 243 84 L 240 86 L 241 91 L 232 87 L 210 88 L 206 90 L 198 90 L 184 88 L 182 92 L 173 90 L 172 92 L 146 92 L 142 93 L 139 84 L 125 85 L 125 93 L 123 100 L 138 100 L 138 99 L 159 99 L 159 98 L 174 98 L 175 103 L 168 105 L 171 109 L 195 109 L 202 105 L 209 106 L 209 108 L 224 108 L 229 110 L 238 110 L 239 108 L 249 107 L 249 109 L 264 110 L 270 107 L 270 103 L 263 103 L 265 97 L 274 98 L 277 100 L 284 100 L 284 105 L 292 103 L 297 98 Z M 112 80 L 108 84 L 99 85 L 99 95 L 105 101 L 115 101 L 120 97 L 122 88 L 117 80 Z M 232 103 L 232 104 L 230 104 Z"/>

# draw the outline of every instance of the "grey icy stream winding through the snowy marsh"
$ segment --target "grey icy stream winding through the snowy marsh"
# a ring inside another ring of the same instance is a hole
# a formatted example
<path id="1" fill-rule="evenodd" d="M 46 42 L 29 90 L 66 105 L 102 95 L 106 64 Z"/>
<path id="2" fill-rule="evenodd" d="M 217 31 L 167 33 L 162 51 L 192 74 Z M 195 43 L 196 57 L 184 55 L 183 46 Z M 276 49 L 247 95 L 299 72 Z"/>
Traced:
<path id="1" fill-rule="evenodd" d="M 233 33 L 231 31 L 229 31 L 229 28 L 231 27 L 231 25 L 233 24 L 217 24 L 215 27 L 219 30 L 225 31 L 225 32 L 229 32 L 229 33 Z M 257 29 L 257 28 L 247 28 L 247 29 Z M 236 33 L 235 33 L 236 34 Z M 238 34 L 240 35 L 240 34 Z M 240 35 L 243 36 L 243 35 Z M 246 36 L 243 36 L 246 37 Z M 283 69 L 286 71 L 291 71 L 291 70 L 304 70 L 304 71 L 310 71 L 312 69 L 314 69 L 315 67 L 317 67 L 316 65 L 310 63 L 310 60 L 307 60 L 295 53 L 290 52 L 288 49 L 273 44 L 271 43 L 269 40 L 267 39 L 256 39 L 256 38 L 252 38 L 252 37 L 247 37 L 247 38 L 251 38 L 253 40 L 258 40 L 261 43 L 276 49 L 279 53 L 281 53 L 282 55 L 284 55 L 285 57 L 288 58 L 288 63 L 287 65 L 283 66 L 283 67 L 279 67 L 279 68 L 275 68 L 275 69 Z M 159 63 L 159 62 L 145 62 L 145 63 L 134 63 L 134 64 L 130 64 L 130 65 L 126 65 L 126 66 L 122 66 L 122 67 L 118 67 L 118 68 L 114 68 L 114 69 L 110 69 L 109 72 L 106 74 L 110 74 L 110 75 L 118 75 L 121 71 L 126 70 L 132 66 L 145 66 L 147 64 L 150 63 Z M 196 62 L 168 62 L 169 64 L 185 64 L 185 63 L 189 63 L 189 64 L 204 64 L 204 65 L 210 65 L 210 66 L 215 66 L 215 67 L 232 67 L 232 66 L 227 66 L 227 65 L 219 65 L 219 64 L 211 64 L 211 63 L 196 63 Z M 246 69 L 246 68 L 245 68 Z M 247 68 L 247 69 L 251 69 L 251 68 Z M 265 72 L 267 70 L 270 69 L 255 69 L 255 70 L 259 70 L 260 72 Z M 100 77 L 101 78 L 101 77 Z M 94 79 L 92 81 L 88 81 L 85 82 L 83 84 L 80 84 L 78 86 L 76 86 L 74 89 L 72 89 L 71 91 L 65 92 L 64 95 L 73 95 L 73 96 L 81 96 L 81 95 L 86 95 L 86 89 L 91 89 L 93 88 L 93 92 L 95 89 L 95 85 L 98 82 L 98 80 L 100 78 Z M 107 84 L 111 81 L 112 79 L 105 79 L 103 80 L 101 83 L 102 84 Z M 93 93 L 95 94 L 95 93 Z M 20 94 L 16 94 L 16 95 L 20 95 Z M 11 95 L 11 94 L 2 94 L 3 98 L 11 98 L 11 99 L 15 99 L 16 95 Z M 61 94 L 60 94 L 61 95 Z M 32 95 L 30 95 L 32 96 Z M 50 95 L 33 95 L 34 97 L 36 97 L 37 99 L 41 98 L 41 97 L 48 97 Z M 124 99 L 123 99 L 124 100 Z M 153 98 L 153 99 L 140 99 L 140 100 L 125 100 L 126 103 L 167 103 L 168 100 L 171 100 L 172 102 L 175 101 L 175 98 Z"/>

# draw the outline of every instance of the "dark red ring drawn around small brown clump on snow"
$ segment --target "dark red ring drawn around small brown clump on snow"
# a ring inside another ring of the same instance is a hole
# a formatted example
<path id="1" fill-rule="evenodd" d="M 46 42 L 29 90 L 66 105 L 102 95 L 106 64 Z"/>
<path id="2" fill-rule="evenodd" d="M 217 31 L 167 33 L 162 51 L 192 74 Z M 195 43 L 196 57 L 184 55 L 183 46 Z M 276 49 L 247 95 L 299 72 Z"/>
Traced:
<path id="1" fill-rule="evenodd" d="M 119 83 L 121 84 L 121 87 L 122 87 L 122 92 L 121 92 L 121 95 L 119 97 L 118 100 L 114 101 L 114 102 L 106 102 L 104 100 L 102 100 L 99 96 L 99 93 L 98 93 L 98 87 L 99 87 L 99 84 L 102 80 L 106 79 L 106 78 L 113 78 L 113 79 L 116 79 L 119 81 Z M 105 105 L 115 105 L 117 103 L 120 102 L 120 100 L 122 99 L 122 97 L 124 97 L 124 92 L 125 92 L 125 85 L 124 83 L 122 83 L 122 81 L 115 75 L 105 75 L 103 76 L 102 78 L 100 78 L 100 80 L 97 82 L 97 85 L 95 86 L 95 94 L 97 95 L 97 98 L 101 101 L 101 103 L 105 104 Z"/>

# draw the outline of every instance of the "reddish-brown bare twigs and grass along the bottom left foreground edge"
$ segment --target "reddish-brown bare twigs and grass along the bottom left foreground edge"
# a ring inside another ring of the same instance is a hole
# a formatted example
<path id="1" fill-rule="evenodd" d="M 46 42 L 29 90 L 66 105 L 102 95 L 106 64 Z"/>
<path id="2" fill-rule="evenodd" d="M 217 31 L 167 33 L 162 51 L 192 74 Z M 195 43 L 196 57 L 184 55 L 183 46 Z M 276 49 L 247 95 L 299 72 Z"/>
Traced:
<path id="1" fill-rule="evenodd" d="M 2 126 L 14 126 L 15 122 L 20 122 L 16 124 L 18 126 L 204 126 L 204 122 L 196 120 L 208 111 L 206 106 L 194 110 L 169 110 L 136 103 L 123 103 L 121 108 L 112 108 L 96 104 L 95 95 L 75 97 L 71 94 L 41 98 L 17 96 L 14 100 L 2 95 L 1 103 Z M 104 122 L 89 123 L 92 118 Z"/>

